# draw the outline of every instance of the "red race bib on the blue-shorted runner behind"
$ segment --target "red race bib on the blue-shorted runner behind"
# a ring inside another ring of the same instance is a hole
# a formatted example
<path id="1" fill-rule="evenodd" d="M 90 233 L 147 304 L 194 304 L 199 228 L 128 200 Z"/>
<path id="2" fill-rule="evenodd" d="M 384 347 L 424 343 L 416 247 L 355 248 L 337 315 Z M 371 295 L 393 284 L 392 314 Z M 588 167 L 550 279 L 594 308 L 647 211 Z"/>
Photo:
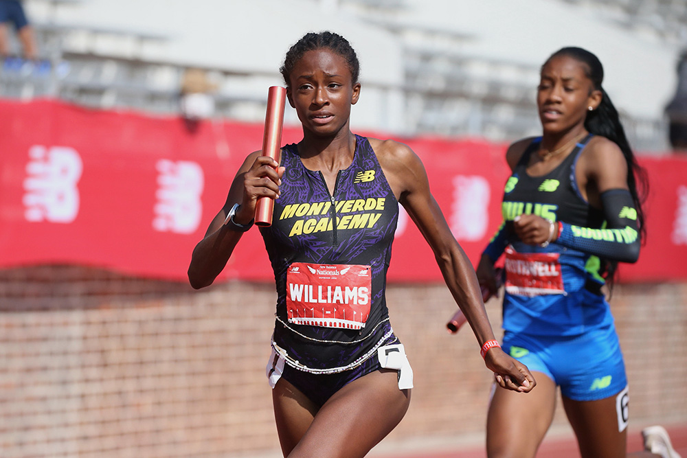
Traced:
<path id="1" fill-rule="evenodd" d="M 506 291 L 519 296 L 565 294 L 559 253 L 518 253 L 506 247 Z"/>

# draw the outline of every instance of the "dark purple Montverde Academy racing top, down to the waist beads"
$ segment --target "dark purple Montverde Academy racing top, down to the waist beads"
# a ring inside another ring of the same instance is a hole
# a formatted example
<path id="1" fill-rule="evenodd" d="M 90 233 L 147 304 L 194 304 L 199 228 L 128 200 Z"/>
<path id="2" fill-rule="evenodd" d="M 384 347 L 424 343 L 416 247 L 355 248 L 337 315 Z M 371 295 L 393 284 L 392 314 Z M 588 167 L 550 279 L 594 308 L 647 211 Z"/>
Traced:
<path id="1" fill-rule="evenodd" d="M 273 345 L 309 369 L 354 365 L 392 333 L 385 286 L 398 201 L 368 139 L 355 138 L 333 194 L 297 145 L 284 146 L 272 225 L 260 228 L 278 295 Z"/>

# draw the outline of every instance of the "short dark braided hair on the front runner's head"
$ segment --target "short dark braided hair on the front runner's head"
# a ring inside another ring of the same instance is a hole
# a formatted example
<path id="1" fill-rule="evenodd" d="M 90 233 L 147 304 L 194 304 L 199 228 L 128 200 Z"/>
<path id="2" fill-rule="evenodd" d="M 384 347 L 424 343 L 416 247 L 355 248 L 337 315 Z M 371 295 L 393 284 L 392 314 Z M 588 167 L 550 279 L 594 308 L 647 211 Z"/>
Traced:
<path id="1" fill-rule="evenodd" d="M 286 57 L 284 57 L 284 65 L 279 69 L 288 87 L 291 84 L 289 77 L 291 76 L 291 71 L 295 67 L 296 63 L 303 57 L 307 51 L 315 51 L 316 49 L 328 48 L 339 54 L 346 60 L 348 69 L 350 70 L 350 76 L 353 84 L 358 82 L 358 76 L 360 74 L 360 63 L 358 62 L 358 57 L 355 54 L 354 49 L 351 47 L 350 43 L 346 38 L 334 32 L 309 32 L 305 34 L 295 45 L 289 48 L 286 52 Z"/>

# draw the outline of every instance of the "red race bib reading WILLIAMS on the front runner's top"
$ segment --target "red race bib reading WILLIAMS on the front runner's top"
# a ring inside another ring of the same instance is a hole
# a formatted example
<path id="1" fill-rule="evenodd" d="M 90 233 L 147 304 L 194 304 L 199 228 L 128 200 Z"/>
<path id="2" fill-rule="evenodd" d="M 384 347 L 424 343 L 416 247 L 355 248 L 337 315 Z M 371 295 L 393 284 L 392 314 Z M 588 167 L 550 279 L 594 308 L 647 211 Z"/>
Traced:
<path id="1" fill-rule="evenodd" d="M 294 262 L 286 272 L 289 323 L 364 328 L 371 295 L 370 266 Z"/>

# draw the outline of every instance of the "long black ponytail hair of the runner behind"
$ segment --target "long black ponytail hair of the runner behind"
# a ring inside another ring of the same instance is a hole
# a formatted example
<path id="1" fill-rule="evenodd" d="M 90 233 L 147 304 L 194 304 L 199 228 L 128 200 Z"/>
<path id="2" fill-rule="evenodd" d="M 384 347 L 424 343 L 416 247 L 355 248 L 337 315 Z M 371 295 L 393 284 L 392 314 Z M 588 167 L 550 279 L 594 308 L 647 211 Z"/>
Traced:
<path id="1" fill-rule="evenodd" d="M 594 111 L 588 111 L 585 119 L 585 128 L 594 135 L 601 135 L 613 141 L 620 150 L 627 162 L 627 187 L 630 190 L 632 200 L 637 210 L 637 224 L 640 231 L 640 240 L 646 240 L 646 226 L 644 225 L 644 209 L 642 203 L 646 200 L 646 195 L 649 193 L 649 179 L 646 176 L 646 170 L 638 163 L 635 155 L 630 148 L 629 141 L 625 136 L 625 130 L 620 123 L 620 116 L 616 107 L 613 106 L 611 98 L 601 87 L 603 82 L 603 66 L 600 60 L 591 52 L 580 47 L 564 47 L 554 52 L 544 62 L 544 66 L 548 62 L 558 56 L 568 56 L 581 62 L 585 67 L 585 75 L 594 84 L 594 89 L 601 91 L 601 103 Z M 543 66 L 542 66 L 543 68 Z M 605 261 L 605 277 L 612 282 L 613 276 L 616 273 L 618 266 L 617 262 Z"/>

